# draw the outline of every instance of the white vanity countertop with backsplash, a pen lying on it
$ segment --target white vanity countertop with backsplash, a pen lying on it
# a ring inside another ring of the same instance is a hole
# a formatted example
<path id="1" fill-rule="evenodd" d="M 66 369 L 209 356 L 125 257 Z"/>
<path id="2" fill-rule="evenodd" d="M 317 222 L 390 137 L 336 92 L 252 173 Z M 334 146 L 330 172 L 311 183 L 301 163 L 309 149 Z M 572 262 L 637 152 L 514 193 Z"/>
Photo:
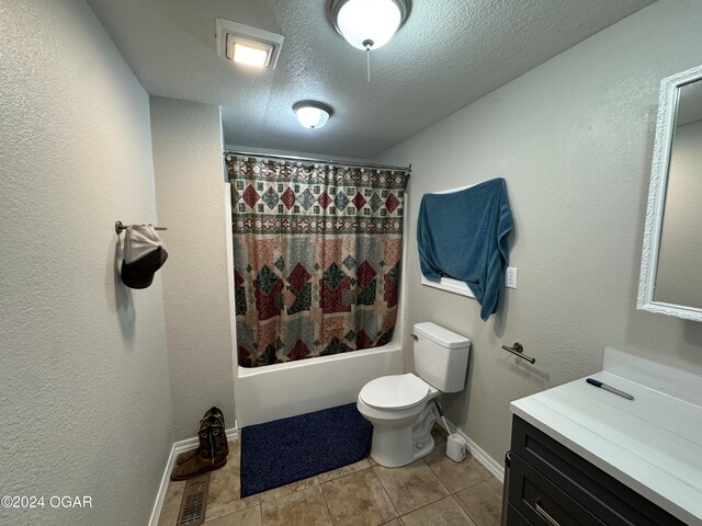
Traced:
<path id="1" fill-rule="evenodd" d="M 633 356 L 623 366 L 629 357 L 605 350 L 609 370 L 590 377 L 634 400 L 582 378 L 510 409 L 680 521 L 702 526 L 702 377 Z M 671 384 L 661 386 L 661 378 Z"/>

